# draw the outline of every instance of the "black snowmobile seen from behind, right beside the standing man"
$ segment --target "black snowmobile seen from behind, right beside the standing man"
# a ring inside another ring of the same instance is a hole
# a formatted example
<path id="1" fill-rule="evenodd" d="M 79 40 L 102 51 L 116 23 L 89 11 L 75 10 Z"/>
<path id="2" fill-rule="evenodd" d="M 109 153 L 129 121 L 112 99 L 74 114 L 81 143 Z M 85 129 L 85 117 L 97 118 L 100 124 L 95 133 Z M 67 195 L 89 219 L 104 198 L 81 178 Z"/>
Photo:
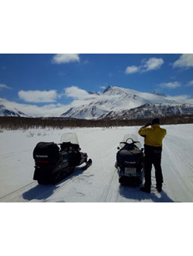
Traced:
<path id="1" fill-rule="evenodd" d="M 140 186 L 143 182 L 144 153 L 137 136 L 127 134 L 118 147 L 117 162 L 120 185 Z"/>

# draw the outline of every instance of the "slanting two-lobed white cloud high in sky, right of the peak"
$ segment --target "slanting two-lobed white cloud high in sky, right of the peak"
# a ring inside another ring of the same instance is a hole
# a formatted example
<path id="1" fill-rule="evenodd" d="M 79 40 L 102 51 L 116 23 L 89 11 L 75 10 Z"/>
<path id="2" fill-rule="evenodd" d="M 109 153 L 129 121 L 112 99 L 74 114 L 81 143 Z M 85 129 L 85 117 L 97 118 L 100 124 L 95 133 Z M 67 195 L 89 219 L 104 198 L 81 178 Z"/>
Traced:
<path id="1" fill-rule="evenodd" d="M 154 71 L 160 69 L 164 64 L 164 60 L 161 58 L 152 57 L 148 61 L 141 61 L 141 66 L 129 66 L 126 68 L 126 74 L 144 73 L 148 71 Z"/>

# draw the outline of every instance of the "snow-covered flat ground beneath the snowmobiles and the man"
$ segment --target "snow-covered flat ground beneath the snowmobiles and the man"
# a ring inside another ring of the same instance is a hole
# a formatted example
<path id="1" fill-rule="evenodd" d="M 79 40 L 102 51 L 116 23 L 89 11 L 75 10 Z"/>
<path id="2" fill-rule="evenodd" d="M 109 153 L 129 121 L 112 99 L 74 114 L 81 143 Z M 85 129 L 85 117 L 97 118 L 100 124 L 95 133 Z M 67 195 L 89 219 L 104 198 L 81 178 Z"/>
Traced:
<path id="1" fill-rule="evenodd" d="M 86 171 L 76 168 L 58 185 L 32 180 L 32 151 L 39 141 L 59 143 L 72 130 L 16 130 L 0 133 L 0 202 L 193 202 L 193 125 L 164 126 L 164 191 L 151 195 L 120 186 L 114 168 L 117 146 L 139 127 L 75 129 L 83 152 L 93 159 Z M 143 144 L 143 138 L 138 137 Z M 152 172 L 155 185 L 154 170 Z"/>

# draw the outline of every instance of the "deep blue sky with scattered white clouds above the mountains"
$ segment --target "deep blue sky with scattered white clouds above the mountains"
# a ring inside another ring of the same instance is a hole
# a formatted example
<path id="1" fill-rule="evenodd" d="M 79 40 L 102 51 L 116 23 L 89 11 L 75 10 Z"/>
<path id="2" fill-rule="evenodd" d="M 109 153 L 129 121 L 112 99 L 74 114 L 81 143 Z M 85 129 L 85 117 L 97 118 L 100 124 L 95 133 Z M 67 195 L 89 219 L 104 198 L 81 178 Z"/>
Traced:
<path id="1" fill-rule="evenodd" d="M 9 106 L 67 109 L 79 92 L 108 85 L 192 99 L 193 54 L 0 54 L 0 103 Z"/>

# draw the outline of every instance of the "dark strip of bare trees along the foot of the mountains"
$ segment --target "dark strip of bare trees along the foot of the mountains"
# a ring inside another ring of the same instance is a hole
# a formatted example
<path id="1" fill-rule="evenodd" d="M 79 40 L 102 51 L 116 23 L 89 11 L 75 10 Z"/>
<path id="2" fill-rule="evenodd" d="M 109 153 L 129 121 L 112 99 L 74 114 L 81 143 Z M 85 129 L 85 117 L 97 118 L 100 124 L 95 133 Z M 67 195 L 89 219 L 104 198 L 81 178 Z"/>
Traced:
<path id="1" fill-rule="evenodd" d="M 112 120 L 112 119 L 66 119 L 66 118 L 25 118 L 25 117 L 0 117 L 2 130 L 29 130 L 29 129 L 64 129 L 73 127 L 113 127 L 113 126 L 143 126 L 150 123 L 151 119 Z M 193 123 L 193 115 L 167 116 L 161 118 L 162 125 Z"/>

